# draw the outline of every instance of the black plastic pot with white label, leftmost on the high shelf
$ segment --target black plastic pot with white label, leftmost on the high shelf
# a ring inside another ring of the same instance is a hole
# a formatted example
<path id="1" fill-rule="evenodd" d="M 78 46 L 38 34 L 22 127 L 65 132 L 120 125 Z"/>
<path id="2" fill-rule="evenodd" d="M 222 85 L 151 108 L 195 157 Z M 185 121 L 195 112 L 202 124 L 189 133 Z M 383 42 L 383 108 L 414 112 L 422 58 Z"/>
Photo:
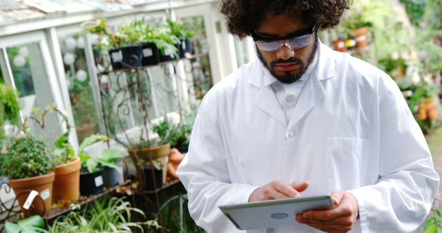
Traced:
<path id="1" fill-rule="evenodd" d="M 109 50 L 113 70 L 135 68 L 142 65 L 142 45 L 124 45 Z"/>

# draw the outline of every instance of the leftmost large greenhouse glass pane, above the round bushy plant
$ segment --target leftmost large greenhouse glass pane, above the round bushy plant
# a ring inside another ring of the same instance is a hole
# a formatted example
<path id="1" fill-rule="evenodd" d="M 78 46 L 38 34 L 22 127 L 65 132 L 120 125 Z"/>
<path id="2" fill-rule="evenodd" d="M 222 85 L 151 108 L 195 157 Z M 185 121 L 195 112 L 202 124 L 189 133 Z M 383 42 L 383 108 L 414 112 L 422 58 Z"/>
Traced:
<path id="1" fill-rule="evenodd" d="M 54 103 L 39 43 L 7 48 L 6 52 L 15 86 L 20 92 L 19 101 L 23 116 L 32 114 L 35 108 L 44 110 L 47 105 Z M 61 125 L 56 114 L 46 115 L 45 129 L 41 129 L 33 121 L 28 121 L 28 124 L 33 134 L 44 136 L 49 144 L 61 134 Z"/>

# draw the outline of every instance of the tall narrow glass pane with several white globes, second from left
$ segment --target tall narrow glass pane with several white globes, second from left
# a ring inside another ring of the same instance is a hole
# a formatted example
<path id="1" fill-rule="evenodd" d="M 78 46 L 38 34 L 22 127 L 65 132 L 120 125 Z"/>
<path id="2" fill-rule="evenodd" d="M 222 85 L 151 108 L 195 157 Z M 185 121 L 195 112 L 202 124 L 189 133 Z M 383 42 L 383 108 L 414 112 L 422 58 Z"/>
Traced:
<path id="1" fill-rule="evenodd" d="M 92 81 L 84 48 L 84 37 L 59 37 L 63 54 L 66 83 L 79 143 L 87 136 L 99 132 L 97 105 L 93 98 Z"/>

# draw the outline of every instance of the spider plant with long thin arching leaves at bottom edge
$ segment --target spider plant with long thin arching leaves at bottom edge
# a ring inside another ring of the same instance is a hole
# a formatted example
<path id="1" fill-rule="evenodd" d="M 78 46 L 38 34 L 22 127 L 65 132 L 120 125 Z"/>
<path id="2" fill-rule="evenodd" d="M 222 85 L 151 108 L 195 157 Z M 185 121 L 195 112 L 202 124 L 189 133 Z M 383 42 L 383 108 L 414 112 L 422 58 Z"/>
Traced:
<path id="1" fill-rule="evenodd" d="M 144 232 L 142 225 L 160 228 L 156 221 L 132 221 L 134 213 L 144 217 L 142 210 L 131 207 L 131 203 L 124 199 L 104 198 L 89 203 L 83 210 L 71 211 L 66 216 L 55 219 L 49 231 L 51 233 L 98 233 L 132 232 L 133 229 L 138 229 Z"/>

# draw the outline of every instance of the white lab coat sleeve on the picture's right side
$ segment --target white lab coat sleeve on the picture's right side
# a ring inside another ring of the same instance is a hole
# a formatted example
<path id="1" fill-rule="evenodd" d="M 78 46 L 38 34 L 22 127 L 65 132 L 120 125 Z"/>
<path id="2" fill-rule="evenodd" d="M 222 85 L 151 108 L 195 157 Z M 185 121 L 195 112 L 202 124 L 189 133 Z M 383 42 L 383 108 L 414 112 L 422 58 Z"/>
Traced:
<path id="1" fill-rule="evenodd" d="M 350 190 L 362 232 L 416 232 L 439 188 L 430 150 L 390 77 L 378 81 L 378 181 Z M 370 168 L 369 168 L 370 169 Z"/>

